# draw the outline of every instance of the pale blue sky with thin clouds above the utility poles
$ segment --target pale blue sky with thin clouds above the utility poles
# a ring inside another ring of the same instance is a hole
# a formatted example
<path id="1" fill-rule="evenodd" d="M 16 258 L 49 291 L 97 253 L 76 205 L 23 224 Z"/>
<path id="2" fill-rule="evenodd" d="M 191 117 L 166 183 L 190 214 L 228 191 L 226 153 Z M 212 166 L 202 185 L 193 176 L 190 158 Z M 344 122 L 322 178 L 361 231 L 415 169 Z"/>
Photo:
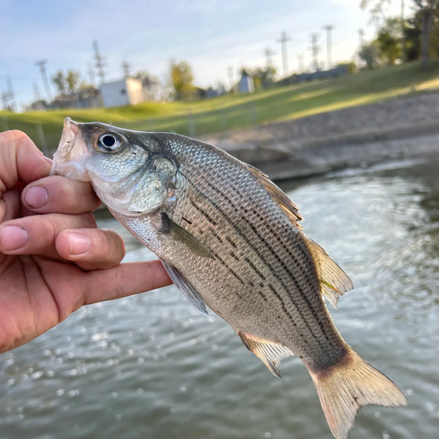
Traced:
<path id="1" fill-rule="evenodd" d="M 286 31 L 288 67 L 298 68 L 298 54 L 310 65 L 310 33 L 320 33 L 319 59 L 326 60 L 322 26 L 335 25 L 333 61 L 349 60 L 358 47 L 358 29 L 371 37 L 374 25 L 359 8 L 360 0 L 0 0 L 0 90 L 9 75 L 19 105 L 34 97 L 36 80 L 44 95 L 38 59 L 47 59 L 52 76 L 73 68 L 88 79 L 87 62 L 97 39 L 106 57 L 107 79 L 119 79 L 127 60 L 132 71 L 148 70 L 166 80 L 169 60 L 188 61 L 200 86 L 227 84 L 227 66 L 264 65 L 263 51 L 273 52 L 282 70 L 275 40 Z M 410 0 L 406 0 L 406 14 Z M 387 13 L 400 13 L 391 0 Z M 52 86 L 53 91 L 54 87 Z"/>

